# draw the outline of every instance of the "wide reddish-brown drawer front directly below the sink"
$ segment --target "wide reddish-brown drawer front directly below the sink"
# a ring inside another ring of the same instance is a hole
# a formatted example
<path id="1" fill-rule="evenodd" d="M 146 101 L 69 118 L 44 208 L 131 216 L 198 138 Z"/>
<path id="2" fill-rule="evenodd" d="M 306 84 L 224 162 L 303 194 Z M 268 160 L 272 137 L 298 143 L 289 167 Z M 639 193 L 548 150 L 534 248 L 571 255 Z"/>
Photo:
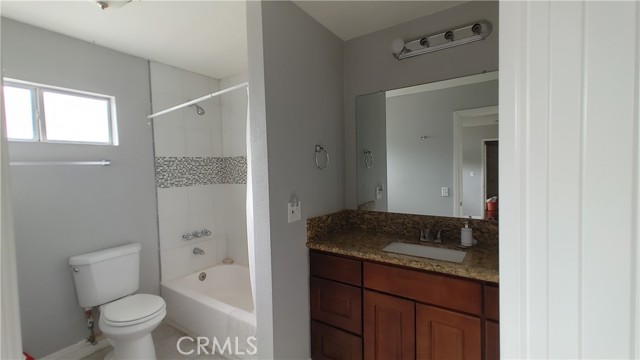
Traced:
<path id="1" fill-rule="evenodd" d="M 364 286 L 474 315 L 482 312 L 482 285 L 473 281 L 365 262 Z"/>

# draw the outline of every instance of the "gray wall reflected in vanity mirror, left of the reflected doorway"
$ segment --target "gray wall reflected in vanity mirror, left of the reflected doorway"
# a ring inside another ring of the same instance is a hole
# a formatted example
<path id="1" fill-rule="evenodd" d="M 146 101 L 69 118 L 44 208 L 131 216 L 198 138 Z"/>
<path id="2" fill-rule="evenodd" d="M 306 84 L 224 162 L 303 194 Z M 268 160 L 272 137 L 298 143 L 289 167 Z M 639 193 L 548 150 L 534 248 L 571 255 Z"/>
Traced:
<path id="1" fill-rule="evenodd" d="M 497 104 L 497 80 L 387 98 L 389 211 L 453 216 L 453 113 Z"/>

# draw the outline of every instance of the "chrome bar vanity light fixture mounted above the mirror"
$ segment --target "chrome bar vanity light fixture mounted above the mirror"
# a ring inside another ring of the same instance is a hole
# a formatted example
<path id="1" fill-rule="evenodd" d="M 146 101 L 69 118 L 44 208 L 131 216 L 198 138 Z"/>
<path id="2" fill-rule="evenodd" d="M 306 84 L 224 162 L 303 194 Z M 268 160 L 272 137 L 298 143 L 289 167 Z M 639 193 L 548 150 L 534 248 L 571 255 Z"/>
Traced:
<path id="1" fill-rule="evenodd" d="M 406 43 L 403 39 L 397 38 L 391 42 L 391 51 L 396 59 L 402 60 L 412 56 L 484 40 L 491 34 L 492 29 L 493 26 L 489 21 L 480 20 L 455 29 L 425 35 Z"/>

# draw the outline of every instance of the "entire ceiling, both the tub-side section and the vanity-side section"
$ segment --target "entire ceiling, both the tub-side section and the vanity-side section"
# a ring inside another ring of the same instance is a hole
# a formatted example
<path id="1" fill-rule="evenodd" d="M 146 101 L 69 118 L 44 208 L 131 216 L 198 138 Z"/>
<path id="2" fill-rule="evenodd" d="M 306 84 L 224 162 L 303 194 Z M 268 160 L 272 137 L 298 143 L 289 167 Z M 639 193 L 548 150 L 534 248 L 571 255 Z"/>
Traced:
<path id="1" fill-rule="evenodd" d="M 349 40 L 462 1 L 294 1 Z M 145 59 L 222 79 L 247 71 L 246 3 L 133 0 L 101 10 L 91 0 L 2 0 L 2 16 Z"/>

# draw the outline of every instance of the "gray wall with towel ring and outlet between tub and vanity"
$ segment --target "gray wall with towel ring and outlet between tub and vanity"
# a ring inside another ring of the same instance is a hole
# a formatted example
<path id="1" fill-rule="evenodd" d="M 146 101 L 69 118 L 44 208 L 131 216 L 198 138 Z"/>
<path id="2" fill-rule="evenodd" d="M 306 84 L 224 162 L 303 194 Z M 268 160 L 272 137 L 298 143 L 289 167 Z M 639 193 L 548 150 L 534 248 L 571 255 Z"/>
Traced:
<path id="1" fill-rule="evenodd" d="M 262 31 L 274 356 L 303 359 L 310 356 L 305 219 L 344 208 L 343 42 L 290 2 L 262 3 Z M 331 155 L 324 171 L 314 163 L 316 144 Z M 294 194 L 302 221 L 289 224 Z"/>

